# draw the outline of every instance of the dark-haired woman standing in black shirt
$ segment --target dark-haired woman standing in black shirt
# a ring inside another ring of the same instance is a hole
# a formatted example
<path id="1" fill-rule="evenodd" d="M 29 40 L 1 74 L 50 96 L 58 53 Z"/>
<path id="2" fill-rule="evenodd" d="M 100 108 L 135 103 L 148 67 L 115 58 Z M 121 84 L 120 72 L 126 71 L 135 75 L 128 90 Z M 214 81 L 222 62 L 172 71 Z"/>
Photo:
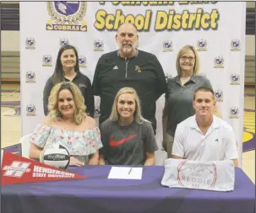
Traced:
<path id="1" fill-rule="evenodd" d="M 63 45 L 57 54 L 57 61 L 52 77 L 46 82 L 43 93 L 44 114 L 48 114 L 48 98 L 52 88 L 64 81 L 76 84 L 84 97 L 86 114 L 94 117 L 95 99 L 89 77 L 79 71 L 79 56 L 73 45 Z"/>

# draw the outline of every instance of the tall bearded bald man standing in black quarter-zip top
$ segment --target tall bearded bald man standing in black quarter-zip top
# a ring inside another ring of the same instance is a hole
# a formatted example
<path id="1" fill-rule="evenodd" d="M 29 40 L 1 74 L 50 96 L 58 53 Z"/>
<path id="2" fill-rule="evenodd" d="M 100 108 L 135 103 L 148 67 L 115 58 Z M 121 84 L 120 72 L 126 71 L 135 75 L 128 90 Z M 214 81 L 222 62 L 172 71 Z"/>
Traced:
<path id="1" fill-rule="evenodd" d="M 119 89 L 130 87 L 139 95 L 143 117 L 156 129 L 155 102 L 166 93 L 166 77 L 155 55 L 137 49 L 138 41 L 135 25 L 120 25 L 116 35 L 119 49 L 97 62 L 92 86 L 94 94 L 101 97 L 100 125 L 109 118 Z"/>

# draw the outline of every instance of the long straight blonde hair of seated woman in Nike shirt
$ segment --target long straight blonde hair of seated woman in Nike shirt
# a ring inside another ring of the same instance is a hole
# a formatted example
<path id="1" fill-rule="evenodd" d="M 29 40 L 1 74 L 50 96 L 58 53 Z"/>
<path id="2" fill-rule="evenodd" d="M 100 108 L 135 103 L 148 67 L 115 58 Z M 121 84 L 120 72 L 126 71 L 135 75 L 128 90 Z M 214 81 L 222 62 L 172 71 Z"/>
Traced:
<path id="1" fill-rule="evenodd" d="M 137 121 L 137 123 L 141 124 L 143 121 L 150 122 L 149 120 L 145 120 L 144 117 L 141 114 L 141 108 L 139 103 L 139 96 L 135 89 L 133 88 L 121 88 L 114 99 L 114 103 L 112 105 L 112 113 L 110 115 L 110 120 L 117 121 L 120 117 L 120 114 L 117 111 L 117 101 L 120 95 L 122 94 L 134 94 L 135 96 L 135 111 L 133 114 L 134 119 Z"/>

